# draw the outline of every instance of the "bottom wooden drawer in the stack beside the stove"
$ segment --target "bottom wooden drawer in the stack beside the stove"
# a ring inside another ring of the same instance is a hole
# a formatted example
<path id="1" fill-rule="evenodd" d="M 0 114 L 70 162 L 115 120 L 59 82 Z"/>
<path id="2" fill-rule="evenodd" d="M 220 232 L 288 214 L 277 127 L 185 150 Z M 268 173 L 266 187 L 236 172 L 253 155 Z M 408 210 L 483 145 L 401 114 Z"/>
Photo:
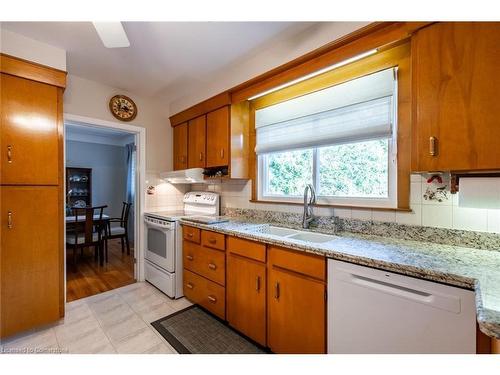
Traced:
<path id="1" fill-rule="evenodd" d="M 225 289 L 193 272 L 184 270 L 184 295 L 221 319 L 226 319 Z"/>

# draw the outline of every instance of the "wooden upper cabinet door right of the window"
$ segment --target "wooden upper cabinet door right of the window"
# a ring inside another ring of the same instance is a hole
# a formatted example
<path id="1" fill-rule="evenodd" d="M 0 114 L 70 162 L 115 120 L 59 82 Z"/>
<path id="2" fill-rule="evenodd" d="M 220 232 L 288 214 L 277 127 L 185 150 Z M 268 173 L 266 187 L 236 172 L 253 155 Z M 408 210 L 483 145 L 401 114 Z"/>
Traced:
<path id="1" fill-rule="evenodd" d="M 412 39 L 414 170 L 500 168 L 499 40 L 499 22 L 437 23 Z"/>

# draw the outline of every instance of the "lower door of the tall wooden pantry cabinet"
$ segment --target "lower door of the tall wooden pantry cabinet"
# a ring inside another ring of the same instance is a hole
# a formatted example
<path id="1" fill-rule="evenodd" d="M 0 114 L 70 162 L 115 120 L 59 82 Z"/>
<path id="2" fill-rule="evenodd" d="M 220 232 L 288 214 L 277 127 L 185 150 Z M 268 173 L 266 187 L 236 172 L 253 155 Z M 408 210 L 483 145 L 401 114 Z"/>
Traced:
<path id="1" fill-rule="evenodd" d="M 2 186 L 2 337 L 57 321 L 62 287 L 59 187 Z"/>

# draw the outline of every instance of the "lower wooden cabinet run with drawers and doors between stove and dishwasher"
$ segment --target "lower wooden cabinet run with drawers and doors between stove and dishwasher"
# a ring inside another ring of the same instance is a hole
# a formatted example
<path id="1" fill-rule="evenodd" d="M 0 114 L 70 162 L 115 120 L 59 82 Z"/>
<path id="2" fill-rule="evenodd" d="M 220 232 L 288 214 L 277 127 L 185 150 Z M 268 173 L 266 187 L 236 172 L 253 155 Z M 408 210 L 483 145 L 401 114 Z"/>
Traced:
<path id="1" fill-rule="evenodd" d="M 184 234 L 189 300 L 274 353 L 326 352 L 324 257 L 189 226 Z"/>

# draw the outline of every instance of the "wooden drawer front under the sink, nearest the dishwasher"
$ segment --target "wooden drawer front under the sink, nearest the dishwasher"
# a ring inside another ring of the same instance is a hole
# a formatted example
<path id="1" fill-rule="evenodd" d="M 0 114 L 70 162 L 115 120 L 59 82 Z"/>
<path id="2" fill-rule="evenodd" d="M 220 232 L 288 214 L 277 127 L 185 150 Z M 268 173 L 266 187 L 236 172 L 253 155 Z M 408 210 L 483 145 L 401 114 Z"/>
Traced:
<path id="1" fill-rule="evenodd" d="M 319 255 L 304 254 L 271 246 L 269 248 L 269 264 L 319 280 L 326 280 L 326 259 Z"/>

